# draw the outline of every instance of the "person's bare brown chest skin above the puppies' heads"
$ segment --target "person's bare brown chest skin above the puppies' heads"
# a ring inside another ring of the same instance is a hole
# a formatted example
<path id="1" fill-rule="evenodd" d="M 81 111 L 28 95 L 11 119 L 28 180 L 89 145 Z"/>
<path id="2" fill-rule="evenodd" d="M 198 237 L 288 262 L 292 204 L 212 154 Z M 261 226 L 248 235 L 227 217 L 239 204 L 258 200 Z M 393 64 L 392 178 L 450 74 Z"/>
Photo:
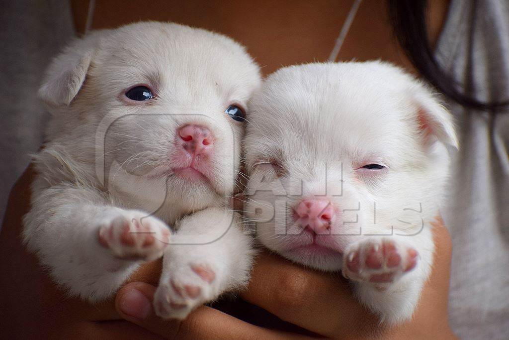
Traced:
<path id="1" fill-rule="evenodd" d="M 136 20 L 174 21 L 205 28 L 241 41 L 270 74 L 281 65 L 326 61 L 348 15 L 352 0 L 281 2 L 157 0 L 151 6 L 136 0 L 96 3 L 92 29 L 117 27 Z M 449 0 L 430 0 L 429 39 L 435 44 L 445 19 Z M 71 1 L 78 33 L 83 32 L 88 3 Z M 122 8 L 122 11 L 118 9 Z M 345 39 L 338 60 L 382 59 L 414 72 L 387 18 L 387 3 L 362 1 Z"/>

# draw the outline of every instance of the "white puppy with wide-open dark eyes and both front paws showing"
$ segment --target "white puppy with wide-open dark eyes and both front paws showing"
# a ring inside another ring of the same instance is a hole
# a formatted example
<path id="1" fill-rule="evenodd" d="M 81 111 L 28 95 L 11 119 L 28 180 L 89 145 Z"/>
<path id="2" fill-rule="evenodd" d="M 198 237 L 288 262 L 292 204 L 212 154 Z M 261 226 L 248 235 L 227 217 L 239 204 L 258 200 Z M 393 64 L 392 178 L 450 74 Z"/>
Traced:
<path id="1" fill-rule="evenodd" d="M 227 202 L 260 83 L 244 47 L 173 23 L 94 32 L 56 57 L 23 231 L 55 281 L 94 302 L 164 254 L 154 305 L 177 319 L 245 284 L 252 248 Z"/>

